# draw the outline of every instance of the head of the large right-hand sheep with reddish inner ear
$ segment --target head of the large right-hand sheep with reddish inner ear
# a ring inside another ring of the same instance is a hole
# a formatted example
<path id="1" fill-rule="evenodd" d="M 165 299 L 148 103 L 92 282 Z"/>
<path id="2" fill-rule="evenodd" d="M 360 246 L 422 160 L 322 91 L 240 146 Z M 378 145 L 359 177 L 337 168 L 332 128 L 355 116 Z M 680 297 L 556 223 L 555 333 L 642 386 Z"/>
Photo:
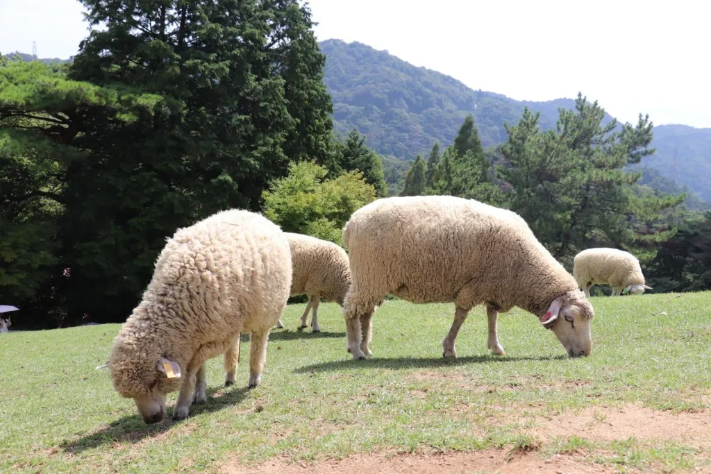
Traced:
<path id="1" fill-rule="evenodd" d="M 555 333 L 570 357 L 587 356 L 592 352 L 590 323 L 594 314 L 582 291 L 568 291 L 550 303 L 540 322 Z"/>

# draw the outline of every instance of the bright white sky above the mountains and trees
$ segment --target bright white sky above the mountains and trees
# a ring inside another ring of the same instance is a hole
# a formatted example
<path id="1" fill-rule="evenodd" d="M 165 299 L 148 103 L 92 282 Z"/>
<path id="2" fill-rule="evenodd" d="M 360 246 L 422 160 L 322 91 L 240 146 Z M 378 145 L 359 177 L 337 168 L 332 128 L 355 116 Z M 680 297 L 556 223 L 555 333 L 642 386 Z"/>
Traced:
<path id="1" fill-rule="evenodd" d="M 711 127 L 706 0 L 311 0 L 319 41 L 388 50 L 513 99 L 582 91 L 623 121 Z M 86 36 L 77 0 L 0 0 L 0 52 L 68 58 Z"/>

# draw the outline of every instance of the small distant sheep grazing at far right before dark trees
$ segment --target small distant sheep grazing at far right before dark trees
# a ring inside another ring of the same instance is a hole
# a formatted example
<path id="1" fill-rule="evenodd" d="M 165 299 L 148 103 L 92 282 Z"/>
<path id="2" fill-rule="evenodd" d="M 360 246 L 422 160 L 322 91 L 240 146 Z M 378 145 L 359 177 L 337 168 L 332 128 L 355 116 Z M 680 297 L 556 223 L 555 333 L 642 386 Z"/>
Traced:
<path id="1" fill-rule="evenodd" d="M 593 285 L 611 286 L 611 296 L 628 291 L 641 295 L 645 289 L 651 290 L 651 286 L 644 284 L 639 260 L 619 249 L 583 250 L 573 259 L 573 277 L 587 298 Z"/>

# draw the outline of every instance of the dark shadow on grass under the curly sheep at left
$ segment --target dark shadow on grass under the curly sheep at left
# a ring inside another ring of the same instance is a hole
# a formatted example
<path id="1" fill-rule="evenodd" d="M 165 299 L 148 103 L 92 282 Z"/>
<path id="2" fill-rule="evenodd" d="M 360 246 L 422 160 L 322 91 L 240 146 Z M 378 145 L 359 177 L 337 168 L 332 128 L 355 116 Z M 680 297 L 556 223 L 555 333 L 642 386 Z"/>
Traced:
<path id="1" fill-rule="evenodd" d="M 213 397 L 215 392 L 221 392 L 223 389 L 224 387 L 208 389 L 208 399 L 204 403 L 191 405 L 188 420 L 201 413 L 212 413 L 213 411 L 220 411 L 230 406 L 235 406 L 245 399 L 247 392 L 250 390 L 247 387 L 242 387 Z M 166 411 L 166 418 L 153 425 L 145 424 L 139 414 L 123 416 L 100 431 L 88 434 L 74 441 L 63 441 L 60 443 L 60 448 L 63 449 L 65 453 L 78 454 L 83 451 L 99 448 L 106 444 L 125 442 L 138 443 L 145 438 L 154 438 L 162 433 L 166 433 L 173 427 L 180 426 L 186 421 L 173 421 L 171 419 L 173 414 L 172 409 L 168 408 Z"/>

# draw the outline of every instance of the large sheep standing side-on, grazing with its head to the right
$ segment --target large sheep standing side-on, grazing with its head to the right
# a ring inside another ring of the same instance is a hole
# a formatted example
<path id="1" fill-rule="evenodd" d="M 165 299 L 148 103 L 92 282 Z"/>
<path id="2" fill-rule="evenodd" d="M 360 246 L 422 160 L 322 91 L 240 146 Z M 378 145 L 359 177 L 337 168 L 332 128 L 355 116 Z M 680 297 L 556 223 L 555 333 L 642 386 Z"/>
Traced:
<path id="1" fill-rule="evenodd" d="M 412 303 L 455 303 L 444 357 L 456 357 L 459 328 L 478 304 L 486 306 L 495 355 L 504 353 L 496 318 L 513 306 L 538 316 L 571 357 L 592 352 L 592 305 L 514 212 L 453 196 L 383 198 L 353 213 L 343 242 L 353 280 L 343 318 L 354 359 L 372 355 L 370 320 L 387 293 Z"/>

